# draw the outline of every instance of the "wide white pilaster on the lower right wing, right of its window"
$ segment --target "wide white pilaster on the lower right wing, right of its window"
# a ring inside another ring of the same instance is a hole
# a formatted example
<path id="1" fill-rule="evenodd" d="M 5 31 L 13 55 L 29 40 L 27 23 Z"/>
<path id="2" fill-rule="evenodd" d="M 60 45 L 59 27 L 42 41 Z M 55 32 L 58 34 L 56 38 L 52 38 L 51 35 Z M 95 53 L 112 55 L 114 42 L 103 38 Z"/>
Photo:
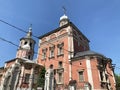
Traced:
<path id="1" fill-rule="evenodd" d="M 90 59 L 88 57 L 86 58 L 86 67 L 87 67 L 88 81 L 91 84 L 92 90 L 94 90 L 91 63 L 90 63 Z"/>

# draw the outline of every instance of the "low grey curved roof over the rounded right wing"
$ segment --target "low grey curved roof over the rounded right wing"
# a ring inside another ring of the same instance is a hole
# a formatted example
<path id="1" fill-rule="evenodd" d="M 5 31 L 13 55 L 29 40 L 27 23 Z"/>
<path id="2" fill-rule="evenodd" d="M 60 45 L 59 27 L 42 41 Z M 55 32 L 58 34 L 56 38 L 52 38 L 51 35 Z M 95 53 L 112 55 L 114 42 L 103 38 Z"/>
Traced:
<path id="1" fill-rule="evenodd" d="M 98 56 L 105 57 L 104 55 L 102 55 L 100 53 L 88 50 L 88 51 L 83 51 L 83 52 L 76 53 L 73 58 L 82 57 L 82 56 L 90 56 L 90 55 L 98 55 Z"/>

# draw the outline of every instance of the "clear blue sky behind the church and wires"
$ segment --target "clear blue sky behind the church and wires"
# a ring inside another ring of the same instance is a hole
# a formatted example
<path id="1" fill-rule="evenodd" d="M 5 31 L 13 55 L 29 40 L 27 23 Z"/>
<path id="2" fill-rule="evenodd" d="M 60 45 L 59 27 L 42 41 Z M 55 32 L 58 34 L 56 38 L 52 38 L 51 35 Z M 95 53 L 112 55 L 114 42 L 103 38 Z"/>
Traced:
<path id="1" fill-rule="evenodd" d="M 40 36 L 59 27 L 62 6 L 70 21 L 91 41 L 91 50 L 111 58 L 115 72 L 120 73 L 120 0 L 0 0 L 0 20 L 25 31 L 32 24 L 33 34 Z M 25 35 L 0 22 L 0 37 L 19 44 Z M 17 47 L 0 40 L 0 66 L 15 58 L 16 51 Z"/>

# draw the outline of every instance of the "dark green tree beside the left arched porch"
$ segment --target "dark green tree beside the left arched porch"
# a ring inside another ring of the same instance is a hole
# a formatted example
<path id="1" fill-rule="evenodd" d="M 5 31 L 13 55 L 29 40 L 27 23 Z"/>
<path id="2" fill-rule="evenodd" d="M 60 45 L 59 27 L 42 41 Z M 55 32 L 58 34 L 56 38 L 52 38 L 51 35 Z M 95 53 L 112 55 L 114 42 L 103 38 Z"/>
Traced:
<path id="1" fill-rule="evenodd" d="M 43 67 L 39 73 L 38 76 L 38 81 L 37 81 L 37 87 L 42 87 L 44 88 L 44 84 L 45 84 L 45 67 Z"/>

